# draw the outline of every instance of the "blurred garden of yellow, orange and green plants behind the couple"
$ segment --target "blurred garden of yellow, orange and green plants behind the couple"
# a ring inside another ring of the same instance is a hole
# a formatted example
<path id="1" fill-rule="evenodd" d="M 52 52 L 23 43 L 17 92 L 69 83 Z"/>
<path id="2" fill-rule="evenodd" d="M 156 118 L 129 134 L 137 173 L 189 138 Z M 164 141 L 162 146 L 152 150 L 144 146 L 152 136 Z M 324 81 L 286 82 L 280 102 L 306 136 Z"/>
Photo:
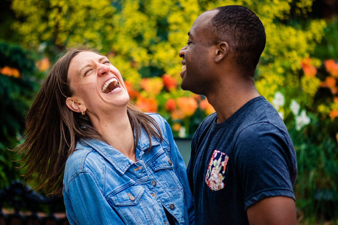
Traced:
<path id="1" fill-rule="evenodd" d="M 167 119 L 176 140 L 189 140 L 214 109 L 180 89 L 178 51 L 201 12 L 231 4 L 265 26 L 255 80 L 294 143 L 298 224 L 338 224 L 337 0 L 1 0 L 0 189 L 21 179 L 20 156 L 8 149 L 20 143 L 48 68 L 74 43 L 106 55 L 132 101 Z"/>

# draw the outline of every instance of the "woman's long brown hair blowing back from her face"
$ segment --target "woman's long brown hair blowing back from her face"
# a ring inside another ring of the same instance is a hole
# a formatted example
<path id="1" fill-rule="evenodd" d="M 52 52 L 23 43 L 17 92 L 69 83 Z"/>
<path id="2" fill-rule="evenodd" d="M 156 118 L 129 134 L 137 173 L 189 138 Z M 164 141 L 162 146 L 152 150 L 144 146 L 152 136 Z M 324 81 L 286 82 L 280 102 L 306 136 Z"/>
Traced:
<path id="1" fill-rule="evenodd" d="M 32 182 L 35 189 L 43 189 L 47 194 L 62 194 L 66 160 L 74 152 L 80 138 L 105 141 L 87 115 L 73 112 L 66 106 L 67 97 L 72 96 L 67 79 L 69 63 L 83 51 L 98 53 L 84 46 L 70 49 L 50 69 L 28 111 L 23 137 L 25 141 L 14 149 L 22 154 L 20 161 L 24 164 L 20 169 L 26 168 L 24 180 L 34 175 Z M 127 114 L 136 139 L 134 151 L 141 128 L 148 135 L 149 149 L 151 136 L 162 141 L 159 125 L 149 115 L 132 103 L 127 106 Z"/>

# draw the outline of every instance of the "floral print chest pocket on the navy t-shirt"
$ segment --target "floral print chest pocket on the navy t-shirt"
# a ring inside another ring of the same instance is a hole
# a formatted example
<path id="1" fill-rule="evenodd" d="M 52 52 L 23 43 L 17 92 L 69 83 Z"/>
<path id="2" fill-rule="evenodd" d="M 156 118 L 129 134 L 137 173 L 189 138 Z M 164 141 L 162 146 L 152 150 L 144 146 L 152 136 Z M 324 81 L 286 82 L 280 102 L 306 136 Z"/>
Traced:
<path id="1" fill-rule="evenodd" d="M 207 169 L 205 182 L 212 191 L 224 188 L 224 173 L 229 157 L 221 151 L 214 150 Z"/>

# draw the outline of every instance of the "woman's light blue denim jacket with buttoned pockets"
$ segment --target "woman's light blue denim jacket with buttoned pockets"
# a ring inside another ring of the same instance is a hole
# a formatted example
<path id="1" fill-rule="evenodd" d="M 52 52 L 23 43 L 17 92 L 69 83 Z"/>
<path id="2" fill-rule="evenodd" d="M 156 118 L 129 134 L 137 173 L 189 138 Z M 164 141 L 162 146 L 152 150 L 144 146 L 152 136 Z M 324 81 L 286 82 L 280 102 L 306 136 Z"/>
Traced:
<path id="1" fill-rule="evenodd" d="M 159 124 L 160 143 L 142 129 L 136 162 L 99 140 L 81 139 L 67 159 L 63 195 L 70 224 L 194 224 L 193 197 L 186 167 L 169 124 Z M 164 207 L 164 208 L 163 208 Z"/>

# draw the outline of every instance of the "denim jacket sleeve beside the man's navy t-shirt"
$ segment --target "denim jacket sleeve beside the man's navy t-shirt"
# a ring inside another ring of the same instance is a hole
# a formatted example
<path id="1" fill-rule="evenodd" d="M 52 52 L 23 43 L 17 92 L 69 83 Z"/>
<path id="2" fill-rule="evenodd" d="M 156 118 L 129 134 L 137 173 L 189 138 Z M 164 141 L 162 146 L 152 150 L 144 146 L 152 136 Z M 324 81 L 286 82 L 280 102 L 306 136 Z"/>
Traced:
<path id="1" fill-rule="evenodd" d="M 176 175 L 183 187 L 184 198 L 185 198 L 184 200 L 185 200 L 186 207 L 187 207 L 189 224 L 193 225 L 194 224 L 194 199 L 192 197 L 190 187 L 189 187 L 186 165 L 184 163 L 184 160 L 181 154 L 178 151 L 177 145 L 174 141 L 174 137 L 172 135 L 172 131 L 171 131 L 171 128 L 168 122 L 165 119 L 163 120 L 165 123 L 165 135 L 167 135 L 169 145 L 170 145 L 170 158 L 173 161 Z"/>

